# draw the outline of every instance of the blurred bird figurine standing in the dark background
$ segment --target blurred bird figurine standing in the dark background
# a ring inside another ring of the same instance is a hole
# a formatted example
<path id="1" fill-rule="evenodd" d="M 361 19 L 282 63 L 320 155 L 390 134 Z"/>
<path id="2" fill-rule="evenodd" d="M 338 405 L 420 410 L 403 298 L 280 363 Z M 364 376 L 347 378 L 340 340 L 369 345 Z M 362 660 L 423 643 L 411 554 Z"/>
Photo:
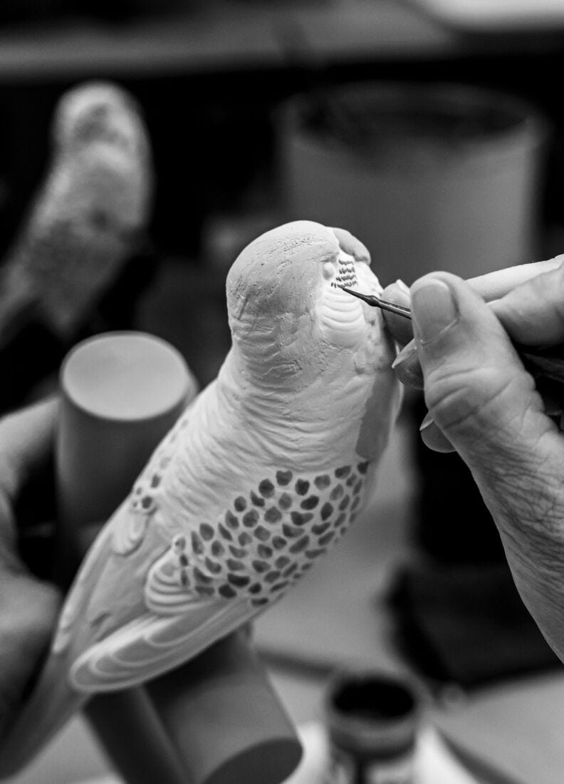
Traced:
<path id="1" fill-rule="evenodd" d="M 65 93 L 52 147 L 45 181 L 0 267 L 0 347 L 30 317 L 69 339 L 146 230 L 150 145 L 128 93 L 105 82 Z"/>

